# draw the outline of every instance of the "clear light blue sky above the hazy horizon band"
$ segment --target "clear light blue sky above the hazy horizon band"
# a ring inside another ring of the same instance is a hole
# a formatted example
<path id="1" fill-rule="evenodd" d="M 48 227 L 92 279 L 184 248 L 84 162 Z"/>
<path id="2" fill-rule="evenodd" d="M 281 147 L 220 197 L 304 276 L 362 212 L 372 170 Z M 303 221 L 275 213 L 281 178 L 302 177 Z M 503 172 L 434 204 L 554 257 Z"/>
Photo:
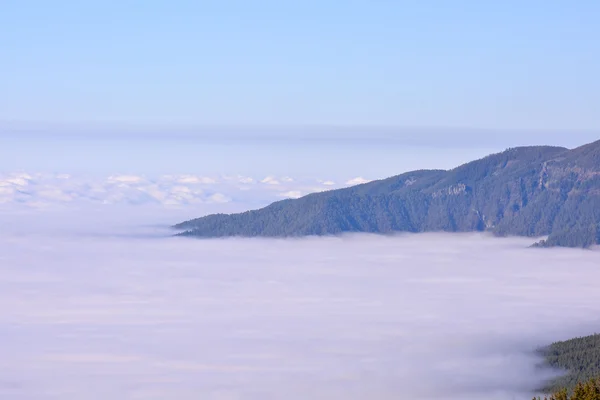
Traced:
<path id="1" fill-rule="evenodd" d="M 0 122 L 598 133 L 599 18 L 594 0 L 5 0 Z"/>

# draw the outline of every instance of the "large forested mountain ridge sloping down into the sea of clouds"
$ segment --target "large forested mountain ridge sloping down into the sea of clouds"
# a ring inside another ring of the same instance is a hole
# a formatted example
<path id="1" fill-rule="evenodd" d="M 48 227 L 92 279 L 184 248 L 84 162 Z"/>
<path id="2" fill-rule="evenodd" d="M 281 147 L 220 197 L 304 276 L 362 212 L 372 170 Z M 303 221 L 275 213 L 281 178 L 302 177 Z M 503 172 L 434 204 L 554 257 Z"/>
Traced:
<path id="1" fill-rule="evenodd" d="M 589 247 L 600 243 L 600 141 L 512 148 L 449 171 L 408 172 L 175 228 L 204 238 L 490 231 Z"/>

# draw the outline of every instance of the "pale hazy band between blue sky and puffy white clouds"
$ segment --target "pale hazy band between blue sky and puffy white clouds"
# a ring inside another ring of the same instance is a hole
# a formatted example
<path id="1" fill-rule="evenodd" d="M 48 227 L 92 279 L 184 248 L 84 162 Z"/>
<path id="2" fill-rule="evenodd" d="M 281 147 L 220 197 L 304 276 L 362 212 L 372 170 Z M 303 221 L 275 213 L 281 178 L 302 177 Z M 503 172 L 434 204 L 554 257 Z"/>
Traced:
<path id="1" fill-rule="evenodd" d="M 0 131 L 0 171 L 381 179 L 451 169 L 509 147 L 574 148 L 600 134 L 485 130 L 214 128 L 216 131 Z M 371 134 L 372 133 L 372 134 Z"/>

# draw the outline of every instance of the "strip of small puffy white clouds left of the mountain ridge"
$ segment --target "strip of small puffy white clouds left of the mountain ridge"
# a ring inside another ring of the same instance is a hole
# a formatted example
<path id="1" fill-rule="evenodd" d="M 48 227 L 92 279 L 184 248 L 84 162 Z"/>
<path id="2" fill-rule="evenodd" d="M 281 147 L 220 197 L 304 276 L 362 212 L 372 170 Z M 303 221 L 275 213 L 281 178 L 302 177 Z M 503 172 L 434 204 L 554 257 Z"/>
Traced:
<path id="1" fill-rule="evenodd" d="M 336 185 L 330 180 L 289 176 L 200 176 L 191 174 L 113 174 L 104 177 L 48 173 L 0 174 L 0 206 L 43 207 L 57 204 L 129 204 L 167 207 L 211 203 L 264 205 L 281 198 L 361 183 Z"/>

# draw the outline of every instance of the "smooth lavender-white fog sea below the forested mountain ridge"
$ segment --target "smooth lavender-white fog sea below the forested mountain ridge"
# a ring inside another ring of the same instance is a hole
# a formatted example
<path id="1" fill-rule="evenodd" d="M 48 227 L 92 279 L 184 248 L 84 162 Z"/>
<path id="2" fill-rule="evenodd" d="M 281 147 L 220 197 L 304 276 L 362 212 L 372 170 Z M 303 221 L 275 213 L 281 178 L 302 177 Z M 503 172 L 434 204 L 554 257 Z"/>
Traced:
<path id="1" fill-rule="evenodd" d="M 556 373 L 533 350 L 600 325 L 595 250 L 193 240 L 164 229 L 189 209 L 15 207 L 0 213 L 3 399 L 528 399 Z"/>

